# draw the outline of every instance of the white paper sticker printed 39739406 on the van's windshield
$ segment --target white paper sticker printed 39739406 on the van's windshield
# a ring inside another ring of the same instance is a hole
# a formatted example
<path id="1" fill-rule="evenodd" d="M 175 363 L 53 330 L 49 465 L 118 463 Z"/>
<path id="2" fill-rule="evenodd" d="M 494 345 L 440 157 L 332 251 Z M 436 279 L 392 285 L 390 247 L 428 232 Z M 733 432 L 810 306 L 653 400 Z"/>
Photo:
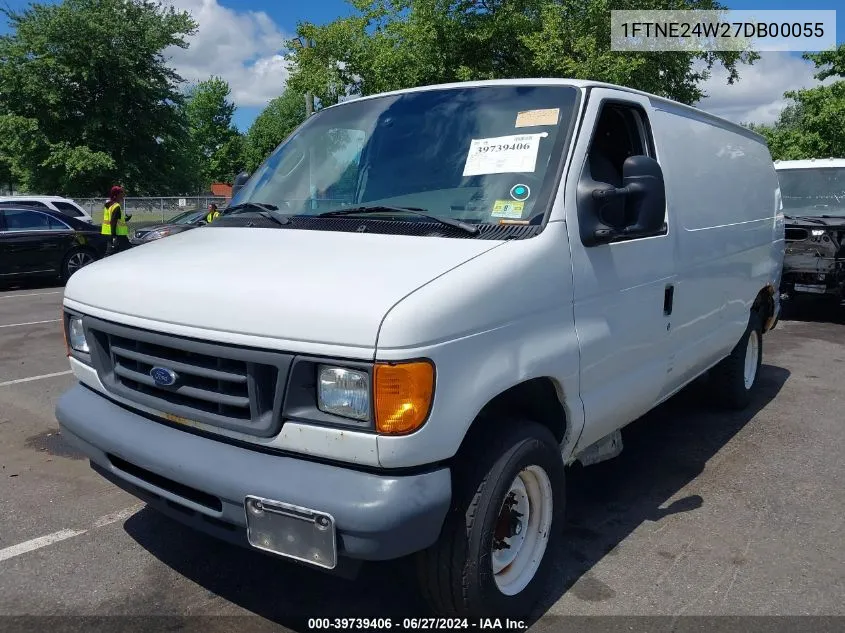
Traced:
<path id="1" fill-rule="evenodd" d="M 537 166 L 540 139 L 544 136 L 548 136 L 548 132 L 474 138 L 469 146 L 464 176 L 531 173 Z"/>

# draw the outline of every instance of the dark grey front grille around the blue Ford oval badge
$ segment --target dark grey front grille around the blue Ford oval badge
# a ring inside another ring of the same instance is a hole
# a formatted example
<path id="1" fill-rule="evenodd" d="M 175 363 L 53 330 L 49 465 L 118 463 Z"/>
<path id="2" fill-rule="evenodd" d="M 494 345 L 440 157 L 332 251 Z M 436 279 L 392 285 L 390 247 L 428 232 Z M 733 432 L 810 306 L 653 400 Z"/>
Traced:
<path id="1" fill-rule="evenodd" d="M 191 421 L 270 436 L 292 356 L 207 343 L 86 317 L 91 358 L 103 385 L 138 404 Z M 173 372 L 172 385 L 151 371 Z"/>

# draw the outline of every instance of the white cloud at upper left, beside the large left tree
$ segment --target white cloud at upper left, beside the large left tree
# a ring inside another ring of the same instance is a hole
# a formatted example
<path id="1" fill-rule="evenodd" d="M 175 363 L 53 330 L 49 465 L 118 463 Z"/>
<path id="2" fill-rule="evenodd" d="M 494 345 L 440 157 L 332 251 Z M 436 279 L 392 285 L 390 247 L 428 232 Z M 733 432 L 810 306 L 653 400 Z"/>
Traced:
<path id="1" fill-rule="evenodd" d="M 279 96 L 288 78 L 284 40 L 289 37 L 263 11 L 238 11 L 217 0 L 170 0 L 198 24 L 188 49 L 165 51 L 170 64 L 190 82 L 222 77 L 241 107 L 264 106 Z"/>

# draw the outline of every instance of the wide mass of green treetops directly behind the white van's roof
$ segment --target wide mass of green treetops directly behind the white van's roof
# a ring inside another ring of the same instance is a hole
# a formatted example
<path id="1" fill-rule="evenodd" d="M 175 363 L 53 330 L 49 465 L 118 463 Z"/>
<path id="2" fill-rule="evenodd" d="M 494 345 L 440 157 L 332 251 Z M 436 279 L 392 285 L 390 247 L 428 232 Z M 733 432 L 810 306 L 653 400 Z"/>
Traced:
<path id="1" fill-rule="evenodd" d="M 289 46 L 290 89 L 335 103 L 347 90 L 386 90 L 472 79 L 568 77 L 639 88 L 695 103 L 717 61 L 738 78 L 751 52 L 610 50 L 612 9 L 721 9 L 713 0 L 350 0 L 354 13 L 300 23 L 313 46 Z M 699 68 L 696 62 L 704 63 Z"/>

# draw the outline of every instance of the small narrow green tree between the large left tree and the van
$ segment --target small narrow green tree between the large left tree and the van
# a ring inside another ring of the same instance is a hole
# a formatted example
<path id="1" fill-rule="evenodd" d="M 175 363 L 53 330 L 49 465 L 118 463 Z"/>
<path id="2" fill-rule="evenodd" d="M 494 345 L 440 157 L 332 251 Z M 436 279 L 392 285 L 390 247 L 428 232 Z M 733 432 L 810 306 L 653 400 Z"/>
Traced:
<path id="1" fill-rule="evenodd" d="M 191 135 L 200 180 L 204 187 L 212 182 L 231 182 L 243 162 L 243 139 L 232 124 L 235 104 L 229 100 L 231 89 L 220 77 L 201 81 L 188 90 L 185 115 Z"/>

